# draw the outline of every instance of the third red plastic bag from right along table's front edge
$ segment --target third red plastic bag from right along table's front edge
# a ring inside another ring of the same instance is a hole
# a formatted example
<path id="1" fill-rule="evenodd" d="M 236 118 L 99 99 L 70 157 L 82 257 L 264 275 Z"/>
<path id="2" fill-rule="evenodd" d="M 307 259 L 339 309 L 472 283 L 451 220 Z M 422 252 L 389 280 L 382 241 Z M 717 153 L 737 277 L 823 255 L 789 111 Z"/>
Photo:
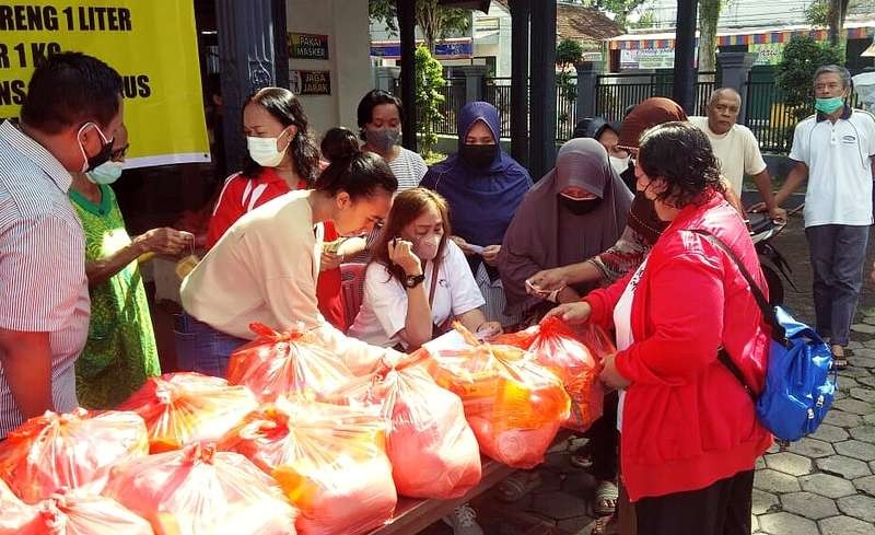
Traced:
<path id="1" fill-rule="evenodd" d="M 480 482 L 480 447 L 458 396 L 413 364 L 416 360 L 362 377 L 340 396 L 382 407 L 392 423 L 386 444 L 399 495 L 458 498 Z"/>

